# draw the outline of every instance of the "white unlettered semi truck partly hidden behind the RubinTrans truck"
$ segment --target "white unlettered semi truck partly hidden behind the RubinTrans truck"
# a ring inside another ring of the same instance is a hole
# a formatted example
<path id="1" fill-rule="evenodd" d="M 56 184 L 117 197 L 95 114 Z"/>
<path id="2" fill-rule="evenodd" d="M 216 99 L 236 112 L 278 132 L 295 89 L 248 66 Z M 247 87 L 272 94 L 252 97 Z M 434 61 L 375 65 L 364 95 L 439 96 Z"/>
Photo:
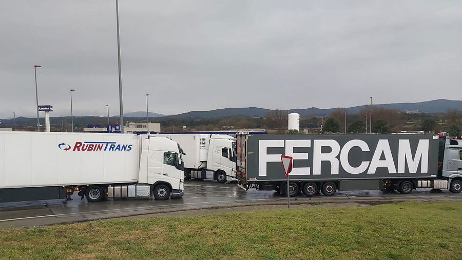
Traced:
<path id="1" fill-rule="evenodd" d="M 185 152 L 185 179 L 216 179 L 226 183 L 236 177 L 236 139 L 225 134 L 159 134 L 177 142 Z"/>

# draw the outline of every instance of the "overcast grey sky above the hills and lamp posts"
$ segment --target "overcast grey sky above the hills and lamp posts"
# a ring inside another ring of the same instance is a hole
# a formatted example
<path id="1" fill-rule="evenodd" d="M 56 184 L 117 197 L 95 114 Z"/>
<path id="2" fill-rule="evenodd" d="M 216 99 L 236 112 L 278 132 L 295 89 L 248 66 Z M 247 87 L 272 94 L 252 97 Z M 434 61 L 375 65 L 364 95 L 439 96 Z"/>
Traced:
<path id="1" fill-rule="evenodd" d="M 462 1 L 120 0 L 124 111 L 462 99 Z M 115 0 L 0 2 L 0 118 L 119 113 Z"/>

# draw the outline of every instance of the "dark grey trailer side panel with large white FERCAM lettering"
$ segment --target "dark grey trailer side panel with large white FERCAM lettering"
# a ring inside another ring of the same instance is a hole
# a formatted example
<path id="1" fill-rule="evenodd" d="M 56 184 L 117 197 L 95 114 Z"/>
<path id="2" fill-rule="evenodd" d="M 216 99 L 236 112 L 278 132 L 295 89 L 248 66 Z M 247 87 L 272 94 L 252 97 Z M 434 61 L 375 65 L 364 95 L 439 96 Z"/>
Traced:
<path id="1" fill-rule="evenodd" d="M 239 136 L 237 145 L 241 147 L 238 177 L 246 182 L 285 179 L 280 155 L 294 157 L 290 174 L 294 181 L 430 178 L 437 174 L 436 135 L 248 135 Z"/>

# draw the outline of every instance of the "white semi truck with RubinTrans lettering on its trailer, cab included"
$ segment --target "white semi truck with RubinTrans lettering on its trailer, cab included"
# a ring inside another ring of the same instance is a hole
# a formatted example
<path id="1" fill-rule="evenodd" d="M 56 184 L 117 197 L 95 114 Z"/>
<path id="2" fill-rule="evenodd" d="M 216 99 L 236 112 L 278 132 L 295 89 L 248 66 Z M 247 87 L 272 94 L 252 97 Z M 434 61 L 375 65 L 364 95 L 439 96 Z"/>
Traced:
<path id="1" fill-rule="evenodd" d="M 0 132 L 0 202 L 184 194 L 180 146 L 152 135 Z"/>

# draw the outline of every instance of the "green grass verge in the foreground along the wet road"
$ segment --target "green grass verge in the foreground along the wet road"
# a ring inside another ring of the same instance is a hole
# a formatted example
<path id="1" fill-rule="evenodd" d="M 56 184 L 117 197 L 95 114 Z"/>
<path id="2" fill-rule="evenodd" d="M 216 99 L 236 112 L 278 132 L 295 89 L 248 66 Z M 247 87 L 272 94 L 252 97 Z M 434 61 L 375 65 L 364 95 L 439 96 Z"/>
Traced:
<path id="1" fill-rule="evenodd" d="M 0 258 L 462 259 L 461 229 L 462 202 L 106 219 L 0 230 Z"/>

